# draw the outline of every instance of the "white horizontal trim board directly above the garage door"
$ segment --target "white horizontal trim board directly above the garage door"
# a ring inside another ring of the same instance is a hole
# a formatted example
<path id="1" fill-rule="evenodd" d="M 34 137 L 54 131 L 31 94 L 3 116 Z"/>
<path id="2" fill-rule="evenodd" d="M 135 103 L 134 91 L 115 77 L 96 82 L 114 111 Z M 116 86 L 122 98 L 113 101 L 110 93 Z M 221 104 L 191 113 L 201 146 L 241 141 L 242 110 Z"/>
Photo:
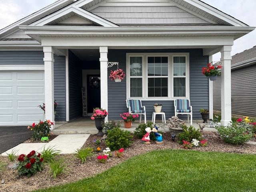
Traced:
<path id="1" fill-rule="evenodd" d="M 17 71 L 17 70 L 30 70 L 30 71 L 43 71 L 44 65 L 0 65 L 0 71 Z"/>

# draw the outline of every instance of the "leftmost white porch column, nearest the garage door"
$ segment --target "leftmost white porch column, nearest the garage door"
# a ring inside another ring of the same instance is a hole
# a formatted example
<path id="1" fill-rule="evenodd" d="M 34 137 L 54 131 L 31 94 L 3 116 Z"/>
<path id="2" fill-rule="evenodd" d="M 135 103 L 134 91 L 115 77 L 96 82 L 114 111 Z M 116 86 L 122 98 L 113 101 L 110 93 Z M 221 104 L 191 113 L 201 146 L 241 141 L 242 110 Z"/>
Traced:
<path id="1" fill-rule="evenodd" d="M 45 118 L 54 122 L 54 52 L 51 46 L 44 46 L 44 94 Z M 54 129 L 54 126 L 52 126 Z"/>

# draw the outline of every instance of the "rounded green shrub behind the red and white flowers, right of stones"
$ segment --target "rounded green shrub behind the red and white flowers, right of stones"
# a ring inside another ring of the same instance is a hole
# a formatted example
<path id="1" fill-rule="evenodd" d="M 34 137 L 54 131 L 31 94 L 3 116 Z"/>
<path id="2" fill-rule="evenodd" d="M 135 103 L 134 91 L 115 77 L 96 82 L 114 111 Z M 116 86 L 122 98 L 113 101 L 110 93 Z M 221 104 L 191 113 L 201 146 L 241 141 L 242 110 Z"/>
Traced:
<path id="1" fill-rule="evenodd" d="M 182 132 L 178 134 L 178 142 L 182 144 L 182 141 L 192 142 L 192 139 L 201 140 L 202 134 L 200 130 L 195 129 L 193 126 L 187 127 L 182 125 Z"/>

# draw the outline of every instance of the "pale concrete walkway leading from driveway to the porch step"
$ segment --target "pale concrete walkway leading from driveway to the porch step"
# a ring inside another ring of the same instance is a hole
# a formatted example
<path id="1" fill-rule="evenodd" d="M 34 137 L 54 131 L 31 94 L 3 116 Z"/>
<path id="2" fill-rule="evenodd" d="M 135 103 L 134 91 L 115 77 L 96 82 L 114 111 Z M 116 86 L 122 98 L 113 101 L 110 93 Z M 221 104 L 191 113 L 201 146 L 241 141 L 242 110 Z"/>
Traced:
<path id="1" fill-rule="evenodd" d="M 80 149 L 86 140 L 89 138 L 90 134 L 65 134 L 59 135 L 48 143 L 21 143 L 6 152 L 2 153 L 2 156 L 7 156 L 13 151 L 17 151 L 20 154 L 28 154 L 32 150 L 36 152 L 41 152 L 43 148 L 54 147 L 61 150 L 60 154 L 71 154 L 74 153 L 76 149 Z"/>

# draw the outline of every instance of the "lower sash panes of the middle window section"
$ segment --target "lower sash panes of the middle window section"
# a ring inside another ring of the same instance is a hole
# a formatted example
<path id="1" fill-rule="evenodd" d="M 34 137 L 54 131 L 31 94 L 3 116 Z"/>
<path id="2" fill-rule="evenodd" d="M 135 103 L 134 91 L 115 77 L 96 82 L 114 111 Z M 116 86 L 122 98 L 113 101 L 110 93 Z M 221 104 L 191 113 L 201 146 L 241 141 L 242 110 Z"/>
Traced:
<path id="1" fill-rule="evenodd" d="M 148 78 L 149 97 L 168 96 L 168 78 Z"/>

